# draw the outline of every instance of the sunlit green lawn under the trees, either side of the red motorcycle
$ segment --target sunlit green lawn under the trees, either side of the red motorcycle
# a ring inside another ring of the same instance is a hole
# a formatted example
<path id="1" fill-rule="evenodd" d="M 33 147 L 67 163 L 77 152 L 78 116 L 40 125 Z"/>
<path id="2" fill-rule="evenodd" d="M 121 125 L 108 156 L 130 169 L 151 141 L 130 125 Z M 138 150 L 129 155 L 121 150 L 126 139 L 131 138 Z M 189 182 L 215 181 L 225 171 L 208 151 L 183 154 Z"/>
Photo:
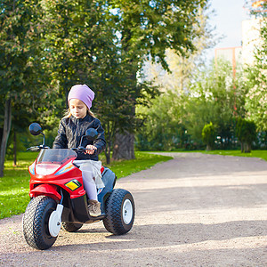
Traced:
<path id="1" fill-rule="evenodd" d="M 4 177 L 0 177 L 0 219 L 25 211 L 29 201 L 28 166 L 34 162 L 37 154 L 36 152 L 19 153 L 16 167 L 12 166 L 12 160 L 6 160 L 4 163 Z M 117 178 L 121 178 L 172 158 L 145 152 L 135 152 L 135 157 L 134 160 L 112 162 L 108 167 L 117 175 Z"/>

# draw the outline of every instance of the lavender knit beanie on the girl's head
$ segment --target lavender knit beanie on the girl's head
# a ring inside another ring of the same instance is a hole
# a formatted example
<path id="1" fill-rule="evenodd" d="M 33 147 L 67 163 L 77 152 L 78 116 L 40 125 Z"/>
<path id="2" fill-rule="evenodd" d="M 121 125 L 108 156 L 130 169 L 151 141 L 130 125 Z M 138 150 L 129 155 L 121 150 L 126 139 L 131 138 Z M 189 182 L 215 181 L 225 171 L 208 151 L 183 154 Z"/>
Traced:
<path id="1" fill-rule="evenodd" d="M 69 91 L 68 103 L 73 98 L 83 101 L 87 108 L 90 109 L 92 107 L 94 93 L 87 85 L 74 85 Z"/>

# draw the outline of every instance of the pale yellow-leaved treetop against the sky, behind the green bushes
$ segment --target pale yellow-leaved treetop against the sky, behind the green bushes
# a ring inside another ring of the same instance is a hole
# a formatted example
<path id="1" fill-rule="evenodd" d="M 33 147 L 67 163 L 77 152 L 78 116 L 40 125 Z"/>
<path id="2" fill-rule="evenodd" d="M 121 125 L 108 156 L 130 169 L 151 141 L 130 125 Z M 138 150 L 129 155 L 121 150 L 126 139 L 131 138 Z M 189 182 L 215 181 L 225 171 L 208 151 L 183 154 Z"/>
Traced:
<path id="1" fill-rule="evenodd" d="M 212 28 L 208 25 L 206 9 L 198 9 L 199 25 L 194 25 L 198 36 L 192 40 L 195 51 L 178 54 L 173 49 L 166 49 L 166 63 L 170 71 L 166 71 L 158 63 L 145 61 L 143 66 L 143 77 L 157 85 L 161 92 L 175 91 L 178 94 L 189 90 L 190 80 L 203 67 L 203 52 L 214 44 Z"/>

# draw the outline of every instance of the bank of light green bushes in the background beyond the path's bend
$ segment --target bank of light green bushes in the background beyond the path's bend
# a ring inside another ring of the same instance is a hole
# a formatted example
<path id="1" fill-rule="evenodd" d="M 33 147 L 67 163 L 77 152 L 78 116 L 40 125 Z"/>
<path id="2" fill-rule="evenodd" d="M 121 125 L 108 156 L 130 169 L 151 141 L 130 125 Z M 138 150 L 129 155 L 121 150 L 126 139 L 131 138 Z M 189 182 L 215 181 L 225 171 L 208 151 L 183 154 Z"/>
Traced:
<path id="1" fill-rule="evenodd" d="M 199 70 L 187 92 L 167 91 L 150 101 L 148 108 L 137 109 L 144 120 L 137 148 L 201 148 L 203 127 L 212 121 L 219 137 L 216 145 L 229 149 L 235 145 L 235 117 L 245 115 L 246 93 L 242 69 L 237 69 L 234 79 L 226 61 Z"/>

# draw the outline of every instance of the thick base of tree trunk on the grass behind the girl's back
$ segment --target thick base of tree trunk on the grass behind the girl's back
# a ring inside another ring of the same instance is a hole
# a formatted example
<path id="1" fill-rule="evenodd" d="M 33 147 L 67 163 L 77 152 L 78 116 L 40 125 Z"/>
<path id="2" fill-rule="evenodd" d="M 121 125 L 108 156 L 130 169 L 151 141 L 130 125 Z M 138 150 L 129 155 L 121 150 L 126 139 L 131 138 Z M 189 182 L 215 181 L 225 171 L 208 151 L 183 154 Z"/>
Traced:
<path id="1" fill-rule="evenodd" d="M 116 134 L 112 158 L 134 159 L 134 134 Z"/>

